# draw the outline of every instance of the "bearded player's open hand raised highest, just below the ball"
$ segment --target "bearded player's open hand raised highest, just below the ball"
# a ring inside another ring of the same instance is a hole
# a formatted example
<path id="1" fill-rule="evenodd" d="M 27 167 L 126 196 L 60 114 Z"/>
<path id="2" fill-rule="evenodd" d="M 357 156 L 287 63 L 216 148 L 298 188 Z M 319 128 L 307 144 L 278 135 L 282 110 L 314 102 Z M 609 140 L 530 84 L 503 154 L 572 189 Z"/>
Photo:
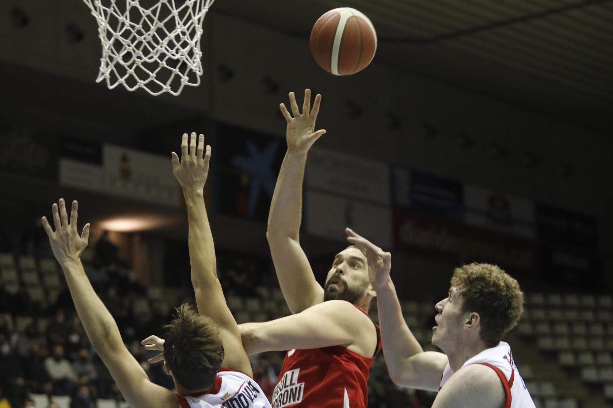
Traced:
<path id="1" fill-rule="evenodd" d="M 292 115 L 289 114 L 285 104 L 281 104 L 281 113 L 287 121 L 287 150 L 295 153 L 307 153 L 308 149 L 313 146 L 316 140 L 321 135 L 326 133 L 326 130 L 318 130 L 315 132 L 315 120 L 319 113 L 319 104 L 321 103 L 321 95 L 315 96 L 313 109 L 311 110 L 311 89 L 305 89 L 305 100 L 302 104 L 302 115 L 296 104 L 296 97 L 293 92 L 289 93 L 289 104 L 292 108 Z"/>

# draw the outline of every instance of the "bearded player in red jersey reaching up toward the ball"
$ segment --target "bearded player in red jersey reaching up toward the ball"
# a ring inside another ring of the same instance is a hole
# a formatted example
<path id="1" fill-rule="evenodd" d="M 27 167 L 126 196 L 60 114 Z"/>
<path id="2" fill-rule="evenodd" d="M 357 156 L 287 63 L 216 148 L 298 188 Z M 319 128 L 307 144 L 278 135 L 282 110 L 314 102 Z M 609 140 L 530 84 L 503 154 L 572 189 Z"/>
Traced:
<path id="1" fill-rule="evenodd" d="M 291 316 L 241 325 L 248 354 L 289 350 L 273 393 L 275 408 L 367 406 L 368 368 L 379 350 L 378 327 L 367 314 L 376 293 L 364 252 L 349 246 L 332 260 L 326 284 L 315 280 L 300 247 L 302 181 L 307 153 L 326 130 L 315 131 L 321 95 L 305 90 L 302 113 L 294 93 L 284 104 L 287 153 L 270 204 L 266 233 Z"/>

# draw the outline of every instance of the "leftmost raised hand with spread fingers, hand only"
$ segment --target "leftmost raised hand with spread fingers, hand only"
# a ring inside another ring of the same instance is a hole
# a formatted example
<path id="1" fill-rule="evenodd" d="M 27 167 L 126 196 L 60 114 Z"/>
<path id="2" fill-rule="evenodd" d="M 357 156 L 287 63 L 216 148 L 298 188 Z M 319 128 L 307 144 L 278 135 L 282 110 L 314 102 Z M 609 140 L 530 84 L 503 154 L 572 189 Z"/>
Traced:
<path id="1" fill-rule="evenodd" d="M 68 222 L 68 214 L 66 213 L 66 205 L 64 198 L 59 199 L 59 203 L 53 203 L 51 207 L 53 211 L 53 223 L 55 224 L 55 232 L 51 229 L 51 225 L 47 221 L 47 217 L 42 217 L 42 226 L 47 232 L 51 250 L 55 259 L 60 265 L 66 262 L 78 260 L 83 249 L 87 246 L 89 238 L 89 223 L 83 227 L 83 232 L 78 235 L 77 232 L 77 200 L 72 202 L 72 211 L 70 211 L 70 223 Z"/>

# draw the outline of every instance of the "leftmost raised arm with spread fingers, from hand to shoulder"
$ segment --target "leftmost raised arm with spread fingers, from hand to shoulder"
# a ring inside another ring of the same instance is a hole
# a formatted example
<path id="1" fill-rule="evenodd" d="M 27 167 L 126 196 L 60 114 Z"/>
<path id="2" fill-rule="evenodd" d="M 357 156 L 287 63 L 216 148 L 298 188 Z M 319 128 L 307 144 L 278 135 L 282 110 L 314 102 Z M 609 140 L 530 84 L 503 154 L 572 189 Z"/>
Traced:
<path id="1" fill-rule="evenodd" d="M 138 361 L 124 346 L 115 320 L 91 287 L 80 260 L 80 255 L 87 246 L 89 224 L 85 225 L 82 235 L 79 236 L 77 209 L 77 202 L 72 202 L 69 223 L 64 199 L 60 198 L 59 205 L 53 204 L 55 232 L 46 217 L 42 217 L 42 225 L 49 237 L 53 255 L 64 271 L 78 317 L 91 345 L 109 369 L 129 406 L 179 408 L 172 391 L 150 382 Z"/>

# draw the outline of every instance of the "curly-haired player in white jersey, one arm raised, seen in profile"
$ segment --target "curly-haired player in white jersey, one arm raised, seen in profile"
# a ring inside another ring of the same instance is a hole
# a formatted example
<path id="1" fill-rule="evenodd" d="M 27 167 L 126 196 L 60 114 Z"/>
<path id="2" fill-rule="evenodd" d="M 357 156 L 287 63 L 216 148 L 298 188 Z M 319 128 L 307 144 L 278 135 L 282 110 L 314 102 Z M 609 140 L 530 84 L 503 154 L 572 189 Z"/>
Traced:
<path id="1" fill-rule="evenodd" d="M 392 255 L 349 229 L 347 235 L 367 254 L 383 353 L 395 384 L 439 391 L 432 408 L 535 407 L 511 347 L 501 341 L 524 311 L 515 279 L 487 263 L 455 268 L 448 296 L 436 303 L 432 328 L 432 344 L 444 353 L 424 352 L 403 319 L 389 276 Z"/>

